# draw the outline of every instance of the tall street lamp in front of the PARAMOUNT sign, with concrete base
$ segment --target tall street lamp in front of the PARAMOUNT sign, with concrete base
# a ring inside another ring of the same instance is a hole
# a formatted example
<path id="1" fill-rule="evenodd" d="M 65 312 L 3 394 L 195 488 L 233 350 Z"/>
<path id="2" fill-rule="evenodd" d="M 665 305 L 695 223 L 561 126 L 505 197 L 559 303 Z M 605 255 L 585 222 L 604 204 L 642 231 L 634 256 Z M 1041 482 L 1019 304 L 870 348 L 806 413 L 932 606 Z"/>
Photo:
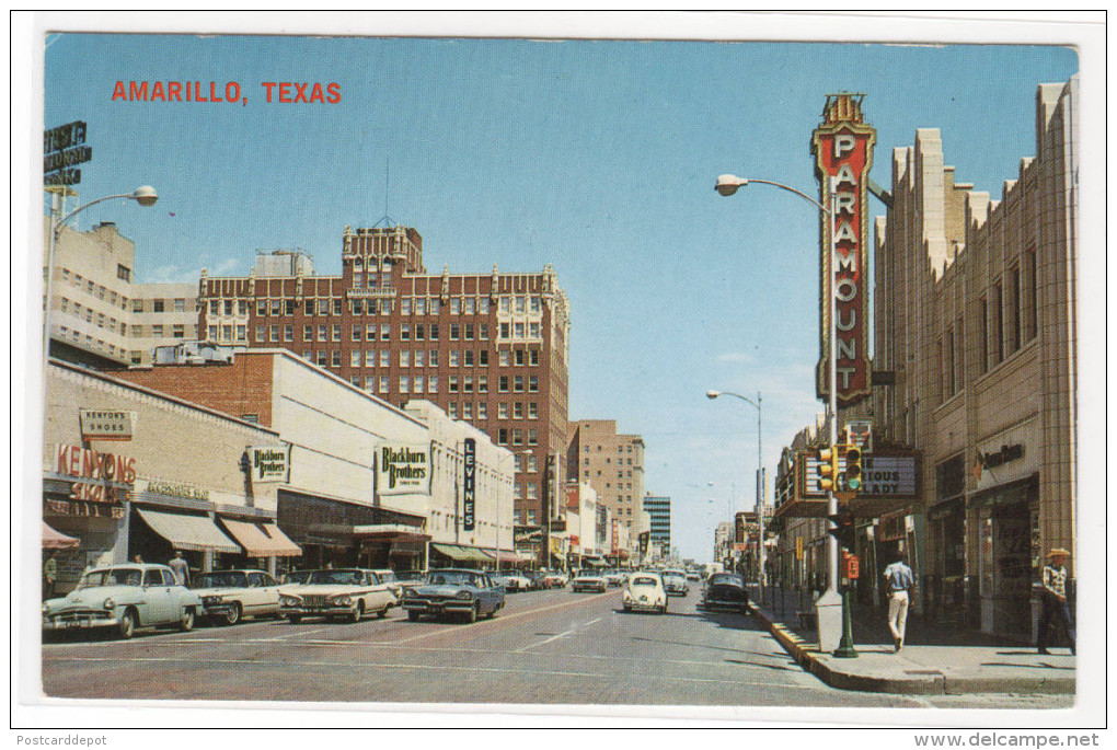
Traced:
<path id="1" fill-rule="evenodd" d="M 819 201 L 814 200 L 801 190 L 796 190 L 791 185 L 785 185 L 781 182 L 773 182 L 771 180 L 755 180 L 738 177 L 734 174 L 720 174 L 717 177 L 717 182 L 714 184 L 714 190 L 720 195 L 733 195 L 738 189 L 748 185 L 750 183 L 761 183 L 765 185 L 772 185 L 773 188 L 779 188 L 780 190 L 785 190 L 789 193 L 794 193 L 799 195 L 804 201 L 810 202 L 812 205 L 818 208 L 827 219 L 827 230 L 830 232 L 830 300 L 829 300 L 829 317 L 830 317 L 830 342 L 828 346 L 828 358 L 829 358 L 829 381 L 830 381 L 830 393 L 828 394 L 827 402 L 827 422 L 829 423 L 829 438 L 831 448 L 838 444 L 838 320 L 837 315 L 837 300 L 836 300 L 836 279 L 838 273 L 838 263 L 836 262 L 836 251 L 837 242 L 836 234 L 837 228 L 834 227 L 834 221 L 838 215 L 838 191 L 836 189 L 836 179 L 830 177 L 827 184 L 827 195 L 829 198 L 830 206 L 827 208 Z M 838 513 L 838 497 L 834 494 L 833 488 L 827 490 L 827 516 L 834 516 Z M 831 521 L 832 523 L 832 521 Z M 827 607 L 829 612 L 831 607 L 839 605 L 834 599 L 838 598 L 838 540 L 833 535 L 827 535 L 827 562 L 828 562 L 828 580 L 827 580 L 827 592 L 819 597 L 819 608 L 822 609 Z M 842 613 L 842 635 L 841 643 L 838 646 L 838 655 L 841 656 L 856 656 L 857 652 L 853 651 L 852 637 L 849 633 L 849 616 L 848 607 L 849 603 L 847 597 L 841 597 L 840 606 L 847 612 Z M 823 641 L 823 629 L 828 628 L 829 625 L 823 623 L 823 617 L 819 616 L 819 641 Z M 829 623 L 829 618 L 827 618 Z M 829 637 L 827 638 L 829 641 Z"/>

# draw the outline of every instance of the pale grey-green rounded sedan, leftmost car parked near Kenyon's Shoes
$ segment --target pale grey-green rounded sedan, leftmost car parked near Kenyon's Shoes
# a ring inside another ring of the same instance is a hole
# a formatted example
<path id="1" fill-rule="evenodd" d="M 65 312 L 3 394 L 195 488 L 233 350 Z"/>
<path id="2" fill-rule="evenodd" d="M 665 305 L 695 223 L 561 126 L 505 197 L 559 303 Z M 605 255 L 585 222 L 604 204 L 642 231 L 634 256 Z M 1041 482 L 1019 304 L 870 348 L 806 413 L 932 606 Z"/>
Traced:
<path id="1" fill-rule="evenodd" d="M 189 631 L 201 609 L 201 597 L 165 565 L 114 565 L 87 571 L 73 592 L 45 602 L 42 629 L 116 628 L 131 638 L 139 627 Z"/>

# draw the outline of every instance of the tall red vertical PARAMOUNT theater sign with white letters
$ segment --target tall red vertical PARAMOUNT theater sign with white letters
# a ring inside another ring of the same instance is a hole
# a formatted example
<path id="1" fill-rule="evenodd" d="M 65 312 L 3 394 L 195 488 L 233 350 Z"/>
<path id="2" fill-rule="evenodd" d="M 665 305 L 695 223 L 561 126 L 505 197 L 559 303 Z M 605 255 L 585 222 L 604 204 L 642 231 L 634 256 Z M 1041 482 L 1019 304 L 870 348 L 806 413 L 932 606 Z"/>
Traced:
<path id="1" fill-rule="evenodd" d="M 837 192 L 833 224 L 822 231 L 822 329 L 817 374 L 819 398 L 830 396 L 830 295 L 837 321 L 838 402 L 849 405 L 869 395 L 869 169 L 877 132 L 861 115 L 863 94 L 831 94 L 814 129 L 811 153 L 821 188 L 821 202 L 830 205 L 833 180 Z M 829 222 L 828 222 L 829 224 Z M 837 247 L 831 252 L 831 242 Z M 837 273 L 832 267 L 837 263 Z"/>

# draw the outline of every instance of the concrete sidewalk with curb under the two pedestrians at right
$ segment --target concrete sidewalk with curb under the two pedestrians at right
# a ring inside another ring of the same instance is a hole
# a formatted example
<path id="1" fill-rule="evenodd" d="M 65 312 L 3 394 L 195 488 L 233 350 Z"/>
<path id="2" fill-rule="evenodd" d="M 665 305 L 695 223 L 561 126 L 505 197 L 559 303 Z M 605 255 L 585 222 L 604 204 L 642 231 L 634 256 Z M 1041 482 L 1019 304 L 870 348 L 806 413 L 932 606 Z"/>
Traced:
<path id="1" fill-rule="evenodd" d="M 751 592 L 751 597 L 756 595 L 755 589 Z M 880 623 L 858 616 L 853 623 L 858 657 L 836 658 L 819 652 L 818 634 L 799 622 L 798 605 L 798 595 L 751 600 L 753 615 L 787 653 L 832 688 L 915 695 L 1075 693 L 1076 660 L 1066 647 L 1041 655 L 1034 647 L 981 634 L 936 632 L 929 637 L 909 621 L 907 642 L 894 653 L 884 615 Z M 805 605 L 812 608 L 809 600 Z"/>

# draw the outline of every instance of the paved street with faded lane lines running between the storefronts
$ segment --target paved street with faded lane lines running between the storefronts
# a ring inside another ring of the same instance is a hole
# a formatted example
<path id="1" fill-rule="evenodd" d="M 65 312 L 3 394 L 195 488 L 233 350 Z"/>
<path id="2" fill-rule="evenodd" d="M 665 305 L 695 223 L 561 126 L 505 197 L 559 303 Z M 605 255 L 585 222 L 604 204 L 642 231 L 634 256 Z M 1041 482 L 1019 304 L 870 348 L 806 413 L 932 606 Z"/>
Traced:
<path id="1" fill-rule="evenodd" d="M 395 609 L 356 625 L 264 621 L 132 641 L 67 637 L 44 646 L 44 688 L 112 699 L 935 705 L 828 688 L 753 618 L 698 612 L 695 588 L 666 616 L 626 614 L 620 589 L 563 589 L 510 595 L 494 619 L 471 625 L 410 623 Z"/>

